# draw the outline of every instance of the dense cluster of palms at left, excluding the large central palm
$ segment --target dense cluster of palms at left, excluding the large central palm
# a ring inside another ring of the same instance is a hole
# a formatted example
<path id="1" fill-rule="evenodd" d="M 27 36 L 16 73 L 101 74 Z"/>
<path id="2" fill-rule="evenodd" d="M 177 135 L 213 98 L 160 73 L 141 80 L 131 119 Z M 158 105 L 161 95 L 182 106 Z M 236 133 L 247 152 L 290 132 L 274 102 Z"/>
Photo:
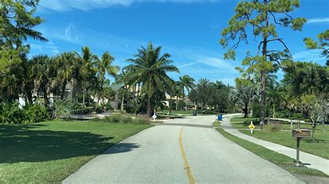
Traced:
<path id="1" fill-rule="evenodd" d="M 85 93 L 101 95 L 106 84 L 106 74 L 116 76 L 119 66 L 113 66 L 114 57 L 106 52 L 99 58 L 88 46 L 78 52 L 60 53 L 54 57 L 35 55 L 24 59 L 22 63 L 10 66 L 1 82 L 4 100 L 12 101 L 24 95 L 28 103 L 33 104 L 33 96 L 42 96 L 45 105 L 49 105 L 51 93 L 65 98 L 67 84 L 80 84 Z M 99 98 L 98 98 L 99 99 Z"/>

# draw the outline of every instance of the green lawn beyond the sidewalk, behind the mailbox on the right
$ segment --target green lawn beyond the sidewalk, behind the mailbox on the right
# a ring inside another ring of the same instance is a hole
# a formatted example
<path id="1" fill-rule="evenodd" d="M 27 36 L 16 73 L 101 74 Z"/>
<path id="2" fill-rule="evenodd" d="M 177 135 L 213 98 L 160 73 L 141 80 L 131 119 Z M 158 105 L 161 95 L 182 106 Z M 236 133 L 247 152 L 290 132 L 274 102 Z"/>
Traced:
<path id="1" fill-rule="evenodd" d="M 282 124 L 282 130 L 280 132 L 268 132 L 267 126 L 264 125 L 263 131 L 259 131 L 259 125 L 255 125 L 253 131 L 254 134 L 250 134 L 248 125 L 244 125 L 239 122 L 232 122 L 233 127 L 239 129 L 244 134 L 253 136 L 255 138 L 260 138 L 262 140 L 267 140 L 269 142 L 274 142 L 286 147 L 296 148 L 296 138 L 292 137 L 291 125 Z M 297 125 L 293 124 L 293 129 L 296 129 Z M 303 129 L 312 129 L 311 125 L 301 124 Z M 323 158 L 329 159 L 329 126 L 328 125 L 318 125 L 315 131 L 315 138 L 319 142 L 310 142 L 310 138 L 303 138 L 301 140 L 301 151 L 305 151 L 310 154 L 321 156 Z"/>

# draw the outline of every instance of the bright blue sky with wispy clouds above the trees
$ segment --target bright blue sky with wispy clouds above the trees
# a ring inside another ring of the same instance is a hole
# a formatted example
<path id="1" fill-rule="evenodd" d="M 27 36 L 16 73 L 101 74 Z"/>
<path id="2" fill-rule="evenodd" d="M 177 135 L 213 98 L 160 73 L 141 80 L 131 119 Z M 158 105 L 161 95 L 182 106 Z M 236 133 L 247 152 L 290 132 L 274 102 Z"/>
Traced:
<path id="1" fill-rule="evenodd" d="M 153 42 L 172 55 L 180 69 L 180 74 L 169 74 L 175 80 L 187 74 L 196 80 L 206 77 L 234 85 L 239 76 L 235 66 L 240 66 L 247 50 L 255 52 L 258 43 L 251 36 L 248 45 L 237 49 L 236 61 L 223 60 L 220 33 L 236 4 L 235 0 L 41 0 L 37 15 L 46 22 L 36 29 L 50 42 L 29 41 L 30 55 L 56 55 L 90 46 L 96 55 L 109 51 L 122 68 L 137 48 Z M 302 0 L 292 16 L 308 20 L 303 32 L 278 29 L 279 37 L 295 60 L 324 65 L 321 51 L 307 50 L 303 38 L 315 38 L 329 28 L 329 1 Z"/>

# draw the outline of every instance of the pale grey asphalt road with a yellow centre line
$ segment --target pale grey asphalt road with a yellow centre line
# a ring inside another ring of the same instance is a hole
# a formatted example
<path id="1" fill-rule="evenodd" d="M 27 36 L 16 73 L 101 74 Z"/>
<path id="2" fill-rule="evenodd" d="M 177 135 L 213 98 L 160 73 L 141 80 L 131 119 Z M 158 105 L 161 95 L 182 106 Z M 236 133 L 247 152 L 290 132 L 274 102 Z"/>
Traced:
<path id="1" fill-rule="evenodd" d="M 303 183 L 221 136 L 211 127 L 215 119 L 176 119 L 141 131 L 63 183 Z"/>

